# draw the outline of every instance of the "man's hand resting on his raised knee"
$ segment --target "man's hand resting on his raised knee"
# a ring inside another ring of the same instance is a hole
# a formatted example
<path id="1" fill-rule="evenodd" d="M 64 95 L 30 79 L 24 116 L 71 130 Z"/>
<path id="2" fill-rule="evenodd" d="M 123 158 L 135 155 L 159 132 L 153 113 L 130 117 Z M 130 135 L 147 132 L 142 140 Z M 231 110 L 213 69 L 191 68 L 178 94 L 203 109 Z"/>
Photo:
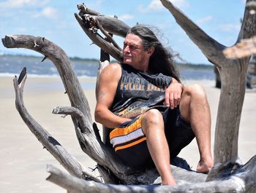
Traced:
<path id="1" fill-rule="evenodd" d="M 181 94 L 184 87 L 176 79 L 170 83 L 169 87 L 165 90 L 164 105 L 169 106 L 170 109 L 176 108 L 181 102 Z"/>

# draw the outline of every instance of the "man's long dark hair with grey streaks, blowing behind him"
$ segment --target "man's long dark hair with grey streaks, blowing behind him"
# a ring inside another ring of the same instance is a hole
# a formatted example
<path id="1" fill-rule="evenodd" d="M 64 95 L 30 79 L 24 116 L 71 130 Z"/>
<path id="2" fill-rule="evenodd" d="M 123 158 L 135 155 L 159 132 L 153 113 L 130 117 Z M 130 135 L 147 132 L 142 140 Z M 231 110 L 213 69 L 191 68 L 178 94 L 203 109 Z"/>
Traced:
<path id="1" fill-rule="evenodd" d="M 130 28 L 127 34 L 135 34 L 139 36 L 143 41 L 143 47 L 148 50 L 149 47 L 154 47 L 154 53 L 151 55 L 149 60 L 149 71 L 153 73 L 162 73 L 167 76 L 172 76 L 178 82 L 180 82 L 178 70 L 174 63 L 174 55 L 172 52 L 167 50 L 153 31 L 146 25 L 135 25 Z"/>

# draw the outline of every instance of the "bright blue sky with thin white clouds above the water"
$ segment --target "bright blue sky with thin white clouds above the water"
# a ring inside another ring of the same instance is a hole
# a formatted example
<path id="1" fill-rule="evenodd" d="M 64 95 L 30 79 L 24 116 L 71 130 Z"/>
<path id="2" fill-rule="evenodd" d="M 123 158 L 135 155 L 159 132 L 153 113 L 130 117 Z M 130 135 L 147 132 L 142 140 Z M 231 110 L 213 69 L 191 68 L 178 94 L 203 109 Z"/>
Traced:
<path id="1" fill-rule="evenodd" d="M 245 0 L 170 0 L 217 42 L 235 44 L 244 15 Z M 83 32 L 75 19 L 77 4 L 84 3 L 103 15 L 117 15 L 129 26 L 153 25 L 161 40 L 188 63 L 209 63 L 159 0 L 0 0 L 0 37 L 24 34 L 42 36 L 59 45 L 69 57 L 99 59 L 99 47 Z M 117 42 L 122 47 L 124 39 Z M 25 49 L 7 49 L 0 54 L 40 54 Z"/>

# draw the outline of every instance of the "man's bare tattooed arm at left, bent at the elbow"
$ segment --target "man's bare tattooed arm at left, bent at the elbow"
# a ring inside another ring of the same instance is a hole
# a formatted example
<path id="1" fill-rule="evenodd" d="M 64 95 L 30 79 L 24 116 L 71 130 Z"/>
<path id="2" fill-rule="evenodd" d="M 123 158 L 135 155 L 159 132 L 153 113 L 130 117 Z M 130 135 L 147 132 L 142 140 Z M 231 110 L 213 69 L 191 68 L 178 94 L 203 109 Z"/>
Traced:
<path id="1" fill-rule="evenodd" d="M 121 66 L 118 63 L 106 66 L 99 76 L 99 87 L 97 92 L 97 105 L 94 112 L 95 121 L 105 127 L 115 128 L 130 119 L 118 117 L 111 112 L 116 89 L 121 78 Z"/>

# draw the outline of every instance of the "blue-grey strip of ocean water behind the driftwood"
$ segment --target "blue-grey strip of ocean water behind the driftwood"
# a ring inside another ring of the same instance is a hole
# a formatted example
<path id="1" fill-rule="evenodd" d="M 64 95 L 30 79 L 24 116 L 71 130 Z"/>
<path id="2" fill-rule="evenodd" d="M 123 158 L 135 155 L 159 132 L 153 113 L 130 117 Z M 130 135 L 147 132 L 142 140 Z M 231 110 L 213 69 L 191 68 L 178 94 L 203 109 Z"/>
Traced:
<path id="1" fill-rule="evenodd" d="M 59 76 L 53 63 L 42 58 L 16 55 L 0 55 L 0 76 L 15 76 L 26 66 L 29 76 Z M 78 77 L 96 77 L 97 60 L 72 59 L 72 67 Z M 215 79 L 214 67 L 209 65 L 178 64 L 181 79 Z"/>

